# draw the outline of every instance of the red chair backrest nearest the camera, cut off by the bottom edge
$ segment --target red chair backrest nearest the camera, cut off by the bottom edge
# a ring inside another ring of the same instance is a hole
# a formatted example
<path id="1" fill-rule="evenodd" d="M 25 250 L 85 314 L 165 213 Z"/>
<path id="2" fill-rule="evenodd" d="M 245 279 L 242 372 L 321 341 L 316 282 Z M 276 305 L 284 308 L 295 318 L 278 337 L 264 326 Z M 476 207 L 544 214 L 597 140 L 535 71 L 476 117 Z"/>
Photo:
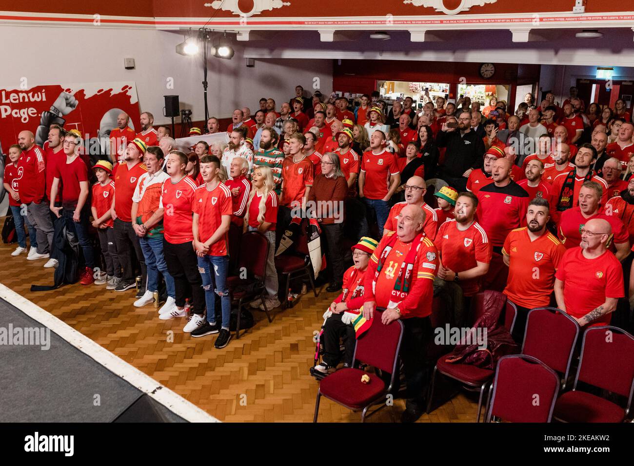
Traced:
<path id="1" fill-rule="evenodd" d="M 559 393 L 557 373 L 525 354 L 503 356 L 493 382 L 491 416 L 510 422 L 550 422 Z"/>

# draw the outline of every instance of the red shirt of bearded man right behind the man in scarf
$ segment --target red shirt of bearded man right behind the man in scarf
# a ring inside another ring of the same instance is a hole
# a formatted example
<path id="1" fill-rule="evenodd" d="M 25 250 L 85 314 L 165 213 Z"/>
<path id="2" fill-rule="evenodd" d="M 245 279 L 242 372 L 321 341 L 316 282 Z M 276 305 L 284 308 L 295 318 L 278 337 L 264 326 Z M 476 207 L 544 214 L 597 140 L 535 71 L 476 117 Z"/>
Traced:
<path id="1" fill-rule="evenodd" d="M 477 222 L 460 231 L 455 220 L 446 221 L 440 226 L 434 244 L 443 266 L 458 273 L 476 267 L 477 262 L 489 264 L 493 254 L 491 243 Z M 465 296 L 473 296 L 480 291 L 481 277 L 460 280 L 458 285 Z"/>

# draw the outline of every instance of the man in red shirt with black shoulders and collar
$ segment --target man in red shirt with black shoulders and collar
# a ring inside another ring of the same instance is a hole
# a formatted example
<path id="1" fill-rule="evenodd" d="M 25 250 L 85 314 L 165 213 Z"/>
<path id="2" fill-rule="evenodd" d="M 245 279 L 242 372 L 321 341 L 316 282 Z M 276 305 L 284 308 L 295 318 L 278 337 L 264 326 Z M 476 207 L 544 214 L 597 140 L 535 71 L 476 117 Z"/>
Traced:
<path id="1" fill-rule="evenodd" d="M 498 159 L 493 163 L 493 183 L 478 193 L 477 217 L 489 236 L 493 250 L 500 253 L 508 233 L 521 226 L 528 207 L 528 193 L 510 178 L 511 163 Z"/>

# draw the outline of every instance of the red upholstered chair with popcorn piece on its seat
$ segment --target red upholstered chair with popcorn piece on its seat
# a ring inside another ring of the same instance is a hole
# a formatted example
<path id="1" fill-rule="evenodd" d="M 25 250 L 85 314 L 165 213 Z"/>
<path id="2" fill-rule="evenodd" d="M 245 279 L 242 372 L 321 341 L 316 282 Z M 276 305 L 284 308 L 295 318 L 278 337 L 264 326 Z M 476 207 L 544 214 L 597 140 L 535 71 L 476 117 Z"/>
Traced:
<path id="1" fill-rule="evenodd" d="M 313 422 L 317 422 L 319 403 L 322 396 L 332 399 L 349 410 L 361 411 L 361 422 L 372 405 L 385 406 L 385 395 L 394 385 L 394 372 L 398 361 L 401 337 L 403 337 L 403 323 L 395 320 L 384 325 L 381 314 L 385 308 L 377 308 L 372 325 L 361 336 L 354 347 L 354 364 L 351 368 L 337 370 L 321 380 L 317 399 L 315 401 L 315 415 Z M 391 374 L 389 387 L 378 375 L 355 368 L 357 363 L 364 363 L 380 369 L 383 373 Z M 370 383 L 361 382 L 361 377 L 368 375 Z M 377 410 L 373 411 L 376 412 Z"/>

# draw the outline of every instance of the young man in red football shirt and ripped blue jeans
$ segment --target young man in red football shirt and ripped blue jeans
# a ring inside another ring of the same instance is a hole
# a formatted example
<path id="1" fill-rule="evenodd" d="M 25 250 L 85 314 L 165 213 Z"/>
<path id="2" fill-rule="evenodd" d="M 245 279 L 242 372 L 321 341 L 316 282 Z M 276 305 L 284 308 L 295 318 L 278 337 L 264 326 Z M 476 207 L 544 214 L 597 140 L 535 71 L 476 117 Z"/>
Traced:
<path id="1" fill-rule="evenodd" d="M 235 162 L 236 165 L 239 162 Z M 236 165 L 233 165 L 236 167 Z M 231 297 L 227 287 L 229 268 L 229 224 L 231 223 L 231 191 L 220 179 L 220 160 L 213 155 L 205 155 L 200 160 L 200 168 L 205 184 L 198 186 L 192 204 L 193 247 L 198 256 L 198 270 L 202 276 L 207 304 L 207 320 L 194 314 L 190 325 L 192 337 L 204 337 L 218 333 L 214 346 L 224 348 L 231 340 L 229 321 L 231 317 Z M 240 176 L 240 174 L 236 174 Z M 234 177 L 234 181 L 235 181 Z M 222 322 L 216 322 L 216 295 L 220 297 Z M 193 323 L 194 321 L 197 321 Z"/>

